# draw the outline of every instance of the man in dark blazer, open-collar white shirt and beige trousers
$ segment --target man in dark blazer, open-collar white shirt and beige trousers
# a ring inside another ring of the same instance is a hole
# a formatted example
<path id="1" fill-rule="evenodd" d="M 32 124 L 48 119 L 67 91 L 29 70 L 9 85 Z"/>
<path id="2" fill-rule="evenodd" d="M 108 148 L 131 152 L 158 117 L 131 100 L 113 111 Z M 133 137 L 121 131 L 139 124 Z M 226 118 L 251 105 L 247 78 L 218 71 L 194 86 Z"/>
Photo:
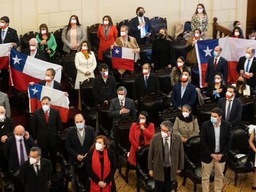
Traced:
<path id="1" fill-rule="evenodd" d="M 214 108 L 211 111 L 211 120 L 204 122 L 200 131 L 203 191 L 209 191 L 210 173 L 213 167 L 215 191 L 222 189 L 225 162 L 232 144 L 231 125 L 221 119 L 222 113 L 220 108 Z"/>

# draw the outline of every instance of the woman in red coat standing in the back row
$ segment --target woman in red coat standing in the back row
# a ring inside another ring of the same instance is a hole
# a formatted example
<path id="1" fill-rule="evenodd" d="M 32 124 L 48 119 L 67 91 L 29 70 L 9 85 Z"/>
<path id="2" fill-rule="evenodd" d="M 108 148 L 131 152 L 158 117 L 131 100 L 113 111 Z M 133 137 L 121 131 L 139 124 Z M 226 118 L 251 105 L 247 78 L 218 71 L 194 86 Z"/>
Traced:
<path id="1" fill-rule="evenodd" d="M 117 38 L 116 26 L 113 25 L 109 15 L 103 17 L 103 25 L 100 25 L 98 28 L 98 38 L 100 40 L 98 59 L 103 60 L 102 52 L 109 49 Z"/>

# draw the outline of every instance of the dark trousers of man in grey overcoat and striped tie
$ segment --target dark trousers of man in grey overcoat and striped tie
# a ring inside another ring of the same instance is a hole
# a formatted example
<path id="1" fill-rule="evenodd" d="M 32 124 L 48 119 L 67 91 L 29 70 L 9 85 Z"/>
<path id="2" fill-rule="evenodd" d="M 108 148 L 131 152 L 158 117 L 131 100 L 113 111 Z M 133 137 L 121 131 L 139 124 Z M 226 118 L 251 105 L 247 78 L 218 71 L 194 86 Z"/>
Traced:
<path id="1" fill-rule="evenodd" d="M 155 180 L 155 192 L 171 191 L 171 167 L 164 167 L 164 182 Z"/>

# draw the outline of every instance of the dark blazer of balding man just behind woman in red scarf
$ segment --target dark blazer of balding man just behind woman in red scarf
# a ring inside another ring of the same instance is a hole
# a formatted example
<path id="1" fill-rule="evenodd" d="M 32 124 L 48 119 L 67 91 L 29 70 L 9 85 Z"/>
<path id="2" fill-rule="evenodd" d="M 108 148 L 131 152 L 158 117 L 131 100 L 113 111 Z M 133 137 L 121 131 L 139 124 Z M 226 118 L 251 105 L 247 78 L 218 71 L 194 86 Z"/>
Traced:
<path id="1" fill-rule="evenodd" d="M 95 131 L 93 127 L 85 125 L 85 140 L 83 141 L 83 146 L 79 141 L 79 137 L 77 136 L 77 128 L 72 127 L 67 131 L 65 148 L 69 153 L 69 162 L 70 164 L 78 164 L 77 156 L 87 154 L 88 150 L 92 146 L 95 140 Z"/>

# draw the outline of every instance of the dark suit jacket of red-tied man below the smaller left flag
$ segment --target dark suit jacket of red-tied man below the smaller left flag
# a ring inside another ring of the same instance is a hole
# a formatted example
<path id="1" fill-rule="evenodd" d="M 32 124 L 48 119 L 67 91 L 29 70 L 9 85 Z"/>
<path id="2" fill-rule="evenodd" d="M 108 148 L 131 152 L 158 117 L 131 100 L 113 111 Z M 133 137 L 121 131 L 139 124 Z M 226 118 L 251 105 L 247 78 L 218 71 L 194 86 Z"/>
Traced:
<path id="1" fill-rule="evenodd" d="M 57 144 L 57 134 L 62 131 L 62 122 L 59 110 L 50 107 L 48 115 L 47 123 L 45 119 L 45 112 L 40 108 L 34 112 L 32 118 L 31 130 L 33 138 L 37 140 L 40 148 L 46 148 L 48 141 L 50 145 Z"/>

